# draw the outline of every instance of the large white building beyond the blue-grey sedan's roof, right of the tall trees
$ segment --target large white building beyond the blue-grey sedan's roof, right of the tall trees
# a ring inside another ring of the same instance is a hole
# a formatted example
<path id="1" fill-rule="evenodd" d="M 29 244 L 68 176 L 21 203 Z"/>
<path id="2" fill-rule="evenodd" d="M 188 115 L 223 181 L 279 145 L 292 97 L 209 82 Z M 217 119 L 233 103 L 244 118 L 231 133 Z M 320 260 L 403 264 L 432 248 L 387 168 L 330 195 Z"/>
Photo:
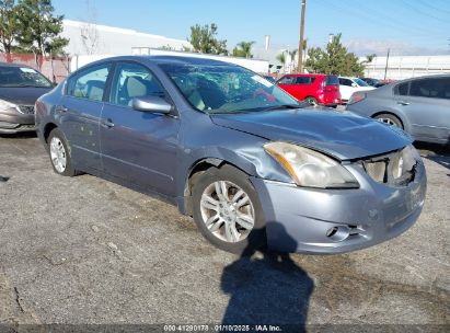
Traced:
<path id="1" fill-rule="evenodd" d="M 64 20 L 62 37 L 69 39 L 66 50 L 73 55 L 130 55 L 135 47 L 191 48 L 187 41 L 140 33 L 129 28 Z"/>

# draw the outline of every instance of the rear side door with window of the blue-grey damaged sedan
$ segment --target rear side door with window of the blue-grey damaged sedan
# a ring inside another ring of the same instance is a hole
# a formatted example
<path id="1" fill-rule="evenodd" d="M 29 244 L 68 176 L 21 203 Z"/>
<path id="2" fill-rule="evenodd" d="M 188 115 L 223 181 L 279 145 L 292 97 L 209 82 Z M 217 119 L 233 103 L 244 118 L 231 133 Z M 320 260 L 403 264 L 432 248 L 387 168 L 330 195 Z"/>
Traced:
<path id="1" fill-rule="evenodd" d="M 82 170 L 101 170 L 99 126 L 111 62 L 89 67 L 70 77 L 56 107 L 71 157 Z"/>

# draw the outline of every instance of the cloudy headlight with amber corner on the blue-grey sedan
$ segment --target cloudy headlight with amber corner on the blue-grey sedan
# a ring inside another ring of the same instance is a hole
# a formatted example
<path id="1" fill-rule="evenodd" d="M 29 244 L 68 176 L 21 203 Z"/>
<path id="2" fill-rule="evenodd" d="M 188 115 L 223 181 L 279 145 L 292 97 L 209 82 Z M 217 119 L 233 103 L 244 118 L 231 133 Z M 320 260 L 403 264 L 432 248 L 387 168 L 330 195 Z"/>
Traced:
<path id="1" fill-rule="evenodd" d="M 357 188 L 359 183 L 335 160 L 314 150 L 287 142 L 269 142 L 264 149 L 292 176 L 299 186 Z"/>

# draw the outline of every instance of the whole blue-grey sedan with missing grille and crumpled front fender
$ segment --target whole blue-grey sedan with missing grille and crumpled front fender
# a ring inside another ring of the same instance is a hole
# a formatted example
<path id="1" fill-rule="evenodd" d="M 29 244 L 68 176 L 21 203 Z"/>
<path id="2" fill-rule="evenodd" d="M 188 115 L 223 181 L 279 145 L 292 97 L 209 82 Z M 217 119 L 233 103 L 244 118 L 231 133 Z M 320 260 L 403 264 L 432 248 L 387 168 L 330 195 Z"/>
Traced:
<path id="1" fill-rule="evenodd" d="M 157 193 L 227 251 L 347 252 L 414 225 L 426 175 L 411 139 L 301 105 L 240 66 L 129 56 L 72 73 L 36 123 L 56 173 Z"/>

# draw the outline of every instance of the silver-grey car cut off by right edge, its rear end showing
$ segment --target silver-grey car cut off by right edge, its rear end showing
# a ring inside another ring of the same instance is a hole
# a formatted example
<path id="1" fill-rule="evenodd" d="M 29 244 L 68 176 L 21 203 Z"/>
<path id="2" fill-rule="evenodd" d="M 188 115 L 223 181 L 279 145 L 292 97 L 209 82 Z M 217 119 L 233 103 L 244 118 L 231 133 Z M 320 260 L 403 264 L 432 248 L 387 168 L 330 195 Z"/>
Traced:
<path id="1" fill-rule="evenodd" d="M 450 142 L 450 76 L 408 79 L 356 92 L 347 110 L 403 128 L 415 140 Z"/>

